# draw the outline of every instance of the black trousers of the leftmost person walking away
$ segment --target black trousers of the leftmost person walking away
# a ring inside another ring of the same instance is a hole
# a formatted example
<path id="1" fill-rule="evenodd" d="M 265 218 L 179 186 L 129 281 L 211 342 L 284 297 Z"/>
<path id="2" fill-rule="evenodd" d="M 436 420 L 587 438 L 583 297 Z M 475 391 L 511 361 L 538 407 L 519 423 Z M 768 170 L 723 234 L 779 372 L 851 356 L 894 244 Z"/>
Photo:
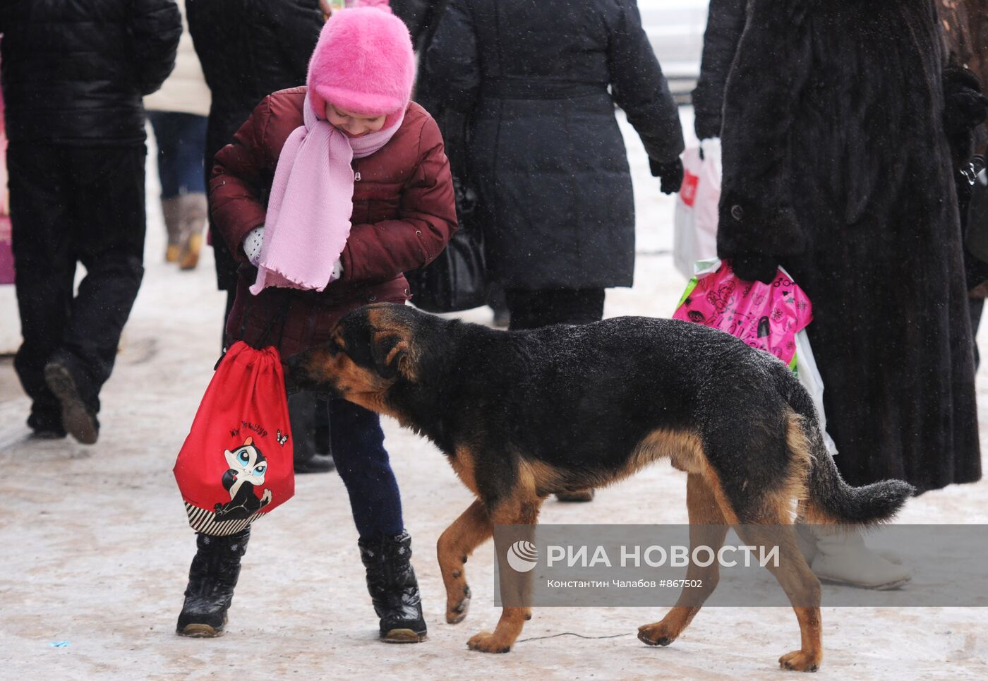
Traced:
<path id="1" fill-rule="evenodd" d="M 58 354 L 89 407 L 110 378 L 144 274 L 143 144 L 20 145 L 7 152 L 17 300 L 14 361 L 35 427 L 60 425 L 43 369 Z M 76 264 L 86 277 L 73 296 Z M 54 420 L 52 422 L 52 419 Z"/>

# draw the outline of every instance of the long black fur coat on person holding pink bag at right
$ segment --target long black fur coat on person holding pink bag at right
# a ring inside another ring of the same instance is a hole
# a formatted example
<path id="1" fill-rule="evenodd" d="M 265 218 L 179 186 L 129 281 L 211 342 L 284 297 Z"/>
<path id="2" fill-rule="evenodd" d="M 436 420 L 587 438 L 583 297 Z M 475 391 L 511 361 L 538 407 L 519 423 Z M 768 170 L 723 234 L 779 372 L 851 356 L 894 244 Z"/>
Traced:
<path id="1" fill-rule="evenodd" d="M 981 476 L 971 329 L 931 0 L 750 0 L 723 112 L 722 257 L 813 303 L 851 484 Z M 945 85 L 946 83 L 946 85 Z"/>

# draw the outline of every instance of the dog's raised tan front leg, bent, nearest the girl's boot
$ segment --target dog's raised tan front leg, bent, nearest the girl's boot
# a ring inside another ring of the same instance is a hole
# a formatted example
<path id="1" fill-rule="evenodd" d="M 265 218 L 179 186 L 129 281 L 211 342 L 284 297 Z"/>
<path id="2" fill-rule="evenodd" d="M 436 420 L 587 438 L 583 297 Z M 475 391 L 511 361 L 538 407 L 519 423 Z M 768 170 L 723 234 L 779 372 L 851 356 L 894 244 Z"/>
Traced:
<path id="1" fill-rule="evenodd" d="M 466 584 L 463 563 L 493 533 L 494 527 L 487 517 L 487 509 L 477 500 L 453 521 L 436 544 L 439 568 L 446 586 L 446 621 L 451 625 L 463 621 L 470 605 L 470 587 Z"/>

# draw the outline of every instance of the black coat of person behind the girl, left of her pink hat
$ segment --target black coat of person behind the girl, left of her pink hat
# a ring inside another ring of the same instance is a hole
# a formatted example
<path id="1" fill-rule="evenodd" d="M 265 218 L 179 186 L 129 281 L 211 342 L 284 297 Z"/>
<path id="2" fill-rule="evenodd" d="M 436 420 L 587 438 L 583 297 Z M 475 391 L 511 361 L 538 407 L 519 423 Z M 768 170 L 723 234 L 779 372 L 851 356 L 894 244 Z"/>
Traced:
<path id="1" fill-rule="evenodd" d="M 303 85 L 323 16 L 318 0 L 186 0 L 189 33 L 212 93 L 206 128 L 206 182 L 212 157 L 258 103 L 278 90 Z M 209 220 L 216 284 L 233 304 L 237 264 Z"/>

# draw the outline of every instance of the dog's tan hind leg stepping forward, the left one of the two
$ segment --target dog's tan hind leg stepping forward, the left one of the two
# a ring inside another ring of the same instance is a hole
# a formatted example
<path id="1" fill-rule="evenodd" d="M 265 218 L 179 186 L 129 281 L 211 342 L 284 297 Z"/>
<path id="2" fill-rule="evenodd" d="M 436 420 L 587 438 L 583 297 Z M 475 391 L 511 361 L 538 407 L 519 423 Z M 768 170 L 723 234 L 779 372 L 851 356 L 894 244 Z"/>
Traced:
<path id="1" fill-rule="evenodd" d="M 690 512 L 690 555 L 696 547 L 709 547 L 713 553 L 719 551 L 727 536 L 727 521 L 709 484 L 700 473 L 690 473 L 686 482 L 686 504 Z M 700 612 L 703 602 L 713 593 L 720 578 L 717 561 L 701 567 L 691 559 L 686 578 L 699 581 L 699 588 L 683 587 L 676 606 L 661 622 L 638 628 L 638 638 L 649 645 L 669 645 L 690 626 L 690 622 Z"/>

